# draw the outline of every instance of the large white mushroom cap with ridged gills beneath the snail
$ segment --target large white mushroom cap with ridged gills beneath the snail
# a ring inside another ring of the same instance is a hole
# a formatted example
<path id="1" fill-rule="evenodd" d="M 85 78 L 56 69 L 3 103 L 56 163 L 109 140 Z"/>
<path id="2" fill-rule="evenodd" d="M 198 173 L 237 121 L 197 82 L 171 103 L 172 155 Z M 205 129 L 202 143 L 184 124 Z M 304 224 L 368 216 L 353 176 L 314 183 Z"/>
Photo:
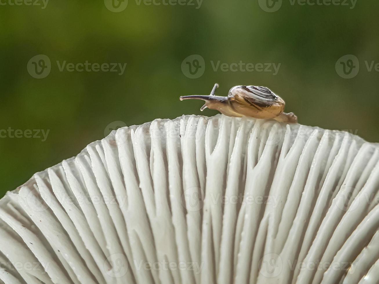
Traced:
<path id="1" fill-rule="evenodd" d="M 0 283 L 377 283 L 379 147 L 183 115 L 119 128 L 0 200 Z"/>

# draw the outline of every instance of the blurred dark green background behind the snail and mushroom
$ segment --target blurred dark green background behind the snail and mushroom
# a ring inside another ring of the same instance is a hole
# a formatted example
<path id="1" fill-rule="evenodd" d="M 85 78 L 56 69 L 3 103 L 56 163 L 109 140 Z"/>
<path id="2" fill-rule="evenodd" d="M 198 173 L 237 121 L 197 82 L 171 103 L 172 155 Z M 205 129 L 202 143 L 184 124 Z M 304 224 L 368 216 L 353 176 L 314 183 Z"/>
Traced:
<path id="1" fill-rule="evenodd" d="M 114 121 L 134 125 L 216 114 L 200 112 L 200 101 L 179 101 L 180 95 L 209 94 L 215 82 L 219 95 L 240 84 L 267 86 L 300 123 L 357 131 L 379 142 L 379 72 L 374 66 L 370 72 L 365 63 L 379 63 L 377 0 L 355 5 L 351 0 L 332 5 L 328 0 L 318 0 L 323 5 L 310 5 L 312 0 L 17 1 L 21 4 L 0 1 L 0 130 L 23 134 L 2 132 L 0 195 L 103 138 Z M 265 5 L 274 8 L 267 12 Z M 41 54 L 50 59 L 51 71 L 37 79 L 33 68 L 41 62 L 31 59 Z M 195 57 L 200 69 L 193 56 L 182 66 L 191 55 L 200 56 Z M 340 59 L 344 55 L 356 57 Z M 346 60 L 345 71 L 352 72 L 346 76 L 356 76 L 343 78 L 345 63 L 338 60 Z M 122 75 L 69 72 L 60 71 L 56 61 L 127 66 Z M 240 61 L 258 64 L 258 70 L 227 68 Z M 218 62 L 224 67 L 215 69 Z M 280 68 L 274 75 L 260 70 L 259 63 Z M 45 140 L 41 133 L 41 138 L 25 137 L 25 130 L 34 129 L 50 131 Z"/>

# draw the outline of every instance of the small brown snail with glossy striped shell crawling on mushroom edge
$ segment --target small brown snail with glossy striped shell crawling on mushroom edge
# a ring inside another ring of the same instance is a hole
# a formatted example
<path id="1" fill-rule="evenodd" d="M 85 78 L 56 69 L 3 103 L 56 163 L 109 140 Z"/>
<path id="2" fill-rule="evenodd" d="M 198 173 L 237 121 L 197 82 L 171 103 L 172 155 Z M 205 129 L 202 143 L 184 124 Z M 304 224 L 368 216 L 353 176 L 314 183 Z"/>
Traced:
<path id="1" fill-rule="evenodd" d="M 274 119 L 278 122 L 297 123 L 298 117 L 293 113 L 285 113 L 285 102 L 267 87 L 234 86 L 227 97 L 216 96 L 218 84 L 215 84 L 210 95 L 182 96 L 180 100 L 204 100 L 200 108 L 216 109 L 224 115 L 232 117 L 254 117 L 255 119 Z"/>

